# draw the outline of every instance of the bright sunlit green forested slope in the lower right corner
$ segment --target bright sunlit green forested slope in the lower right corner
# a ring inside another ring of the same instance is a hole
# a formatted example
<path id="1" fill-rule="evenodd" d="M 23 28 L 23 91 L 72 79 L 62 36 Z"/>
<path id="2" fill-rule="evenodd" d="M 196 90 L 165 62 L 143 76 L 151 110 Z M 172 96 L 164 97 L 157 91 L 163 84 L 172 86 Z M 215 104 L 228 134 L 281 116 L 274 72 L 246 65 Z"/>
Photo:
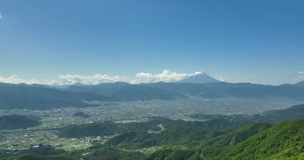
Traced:
<path id="1" fill-rule="evenodd" d="M 293 160 L 304 157 L 304 119 L 281 122 L 219 152 L 203 148 L 204 160 Z"/>

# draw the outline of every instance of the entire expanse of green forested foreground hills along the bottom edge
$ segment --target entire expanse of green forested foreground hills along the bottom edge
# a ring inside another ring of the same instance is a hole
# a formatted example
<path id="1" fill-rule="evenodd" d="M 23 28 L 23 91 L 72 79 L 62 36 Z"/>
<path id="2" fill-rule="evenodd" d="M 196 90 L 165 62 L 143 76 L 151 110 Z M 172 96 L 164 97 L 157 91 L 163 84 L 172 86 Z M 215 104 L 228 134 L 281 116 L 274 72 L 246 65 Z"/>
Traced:
<path id="1" fill-rule="evenodd" d="M 274 126 L 269 123 L 248 124 L 227 131 L 181 128 L 172 126 L 174 123 L 177 122 L 168 120 L 167 125 L 171 127 L 159 133 L 127 132 L 83 151 L 67 153 L 44 148 L 35 154 L 1 160 L 303 160 L 304 157 L 304 119 Z M 123 151 L 123 148 L 153 148 L 154 145 L 162 147 L 149 152 Z"/>

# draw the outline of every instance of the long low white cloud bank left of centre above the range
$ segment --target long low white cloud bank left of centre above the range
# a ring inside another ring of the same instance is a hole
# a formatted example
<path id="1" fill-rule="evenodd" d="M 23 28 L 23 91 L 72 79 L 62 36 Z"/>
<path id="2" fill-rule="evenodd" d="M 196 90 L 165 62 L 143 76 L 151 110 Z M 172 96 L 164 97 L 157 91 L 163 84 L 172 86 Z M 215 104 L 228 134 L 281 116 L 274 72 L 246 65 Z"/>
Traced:
<path id="1" fill-rule="evenodd" d="M 100 84 L 100 83 L 113 83 L 113 82 L 127 82 L 126 77 L 114 76 L 110 77 L 108 75 L 95 74 L 93 76 L 80 76 L 80 75 L 65 75 L 59 76 L 62 84 L 74 84 L 74 83 L 82 83 L 82 84 Z"/>

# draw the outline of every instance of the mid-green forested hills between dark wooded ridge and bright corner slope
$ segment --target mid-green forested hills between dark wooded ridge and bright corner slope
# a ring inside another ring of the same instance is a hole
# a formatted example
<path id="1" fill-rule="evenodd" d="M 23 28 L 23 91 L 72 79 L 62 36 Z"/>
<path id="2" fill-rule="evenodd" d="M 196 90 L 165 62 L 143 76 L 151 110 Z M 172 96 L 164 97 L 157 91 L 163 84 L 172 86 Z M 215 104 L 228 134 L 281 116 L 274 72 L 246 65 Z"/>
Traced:
<path id="1" fill-rule="evenodd" d="M 238 144 L 247 138 L 270 128 L 269 123 L 248 124 L 236 130 L 206 131 L 193 127 L 174 127 L 159 133 L 128 132 L 111 138 L 105 145 L 137 149 L 152 146 L 186 145 L 189 148 L 226 147 Z"/>

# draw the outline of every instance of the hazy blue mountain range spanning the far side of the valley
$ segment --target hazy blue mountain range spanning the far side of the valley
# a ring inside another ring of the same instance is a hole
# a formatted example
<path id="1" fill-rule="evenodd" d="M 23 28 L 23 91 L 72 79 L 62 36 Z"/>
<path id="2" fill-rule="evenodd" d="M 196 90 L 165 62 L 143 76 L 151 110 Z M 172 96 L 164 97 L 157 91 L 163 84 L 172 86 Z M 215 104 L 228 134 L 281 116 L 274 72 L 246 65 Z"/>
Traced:
<path id="1" fill-rule="evenodd" d="M 202 78 L 206 75 L 198 73 L 196 76 Z M 176 98 L 189 98 L 189 96 L 203 98 L 275 96 L 302 99 L 304 98 L 304 87 L 291 84 L 280 86 L 250 83 L 233 84 L 221 81 L 211 83 L 157 82 L 152 84 L 115 82 L 98 85 L 77 84 L 67 88 L 55 88 L 42 84 L 0 83 L 0 109 L 44 110 L 60 107 L 92 107 L 98 105 L 87 104 L 84 101 L 174 100 Z"/>

